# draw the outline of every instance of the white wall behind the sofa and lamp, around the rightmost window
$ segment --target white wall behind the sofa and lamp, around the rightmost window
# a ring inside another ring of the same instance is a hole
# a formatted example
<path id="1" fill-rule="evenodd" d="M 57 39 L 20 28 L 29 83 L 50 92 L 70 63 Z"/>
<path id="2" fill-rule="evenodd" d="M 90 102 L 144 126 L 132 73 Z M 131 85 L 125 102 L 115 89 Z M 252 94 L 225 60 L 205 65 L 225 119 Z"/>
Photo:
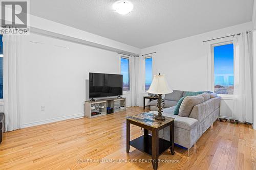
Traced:
<path id="1" fill-rule="evenodd" d="M 147 47 L 142 49 L 141 54 L 156 52 L 154 55 L 154 74 L 158 72 L 165 74 L 173 89 L 209 90 L 208 47 L 202 41 L 247 30 L 252 30 L 252 22 Z M 231 118 L 232 104 L 231 99 L 222 99 L 221 116 Z"/>

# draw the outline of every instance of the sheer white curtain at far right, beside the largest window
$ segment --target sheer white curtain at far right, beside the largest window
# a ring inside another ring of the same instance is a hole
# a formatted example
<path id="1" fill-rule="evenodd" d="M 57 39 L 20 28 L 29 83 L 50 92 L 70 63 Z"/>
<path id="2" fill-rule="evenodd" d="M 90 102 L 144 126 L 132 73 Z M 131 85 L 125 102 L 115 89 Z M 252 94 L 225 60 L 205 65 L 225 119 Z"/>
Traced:
<path id="1" fill-rule="evenodd" d="M 252 123 L 252 33 L 234 37 L 234 119 Z"/>

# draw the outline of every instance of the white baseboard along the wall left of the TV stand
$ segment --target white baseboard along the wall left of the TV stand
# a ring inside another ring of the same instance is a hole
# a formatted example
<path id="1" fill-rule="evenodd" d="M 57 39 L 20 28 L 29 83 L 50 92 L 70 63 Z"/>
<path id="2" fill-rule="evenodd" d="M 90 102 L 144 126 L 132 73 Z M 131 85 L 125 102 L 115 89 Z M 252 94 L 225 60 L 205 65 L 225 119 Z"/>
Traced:
<path id="1" fill-rule="evenodd" d="M 67 120 L 67 119 L 82 117 L 82 116 L 84 116 L 83 113 L 73 114 L 73 115 L 63 116 L 63 117 L 57 117 L 57 118 L 51 118 L 51 119 L 47 119 L 47 120 L 41 120 L 41 121 L 37 121 L 37 122 L 26 123 L 26 124 L 21 125 L 20 128 L 23 129 L 23 128 L 28 128 L 28 127 L 37 126 L 37 125 L 44 125 L 44 124 L 59 122 L 61 120 Z"/>

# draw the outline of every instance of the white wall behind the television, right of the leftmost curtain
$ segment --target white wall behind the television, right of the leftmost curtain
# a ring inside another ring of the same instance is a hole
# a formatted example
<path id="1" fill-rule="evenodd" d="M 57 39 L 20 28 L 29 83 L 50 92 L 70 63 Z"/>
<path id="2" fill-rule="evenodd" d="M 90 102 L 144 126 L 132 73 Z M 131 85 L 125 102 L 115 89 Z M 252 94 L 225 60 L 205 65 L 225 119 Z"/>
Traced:
<path id="1" fill-rule="evenodd" d="M 22 127 L 82 116 L 89 72 L 119 74 L 115 52 L 37 34 L 23 36 L 22 49 Z"/>

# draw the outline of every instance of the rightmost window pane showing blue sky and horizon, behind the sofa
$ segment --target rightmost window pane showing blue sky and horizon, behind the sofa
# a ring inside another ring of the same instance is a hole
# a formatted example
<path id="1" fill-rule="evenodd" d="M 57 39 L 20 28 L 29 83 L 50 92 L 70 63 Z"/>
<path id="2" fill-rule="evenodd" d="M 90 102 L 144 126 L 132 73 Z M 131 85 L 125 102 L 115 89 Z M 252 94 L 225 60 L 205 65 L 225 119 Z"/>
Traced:
<path id="1" fill-rule="evenodd" d="M 214 91 L 217 94 L 233 94 L 234 54 L 233 43 L 215 45 Z"/>

